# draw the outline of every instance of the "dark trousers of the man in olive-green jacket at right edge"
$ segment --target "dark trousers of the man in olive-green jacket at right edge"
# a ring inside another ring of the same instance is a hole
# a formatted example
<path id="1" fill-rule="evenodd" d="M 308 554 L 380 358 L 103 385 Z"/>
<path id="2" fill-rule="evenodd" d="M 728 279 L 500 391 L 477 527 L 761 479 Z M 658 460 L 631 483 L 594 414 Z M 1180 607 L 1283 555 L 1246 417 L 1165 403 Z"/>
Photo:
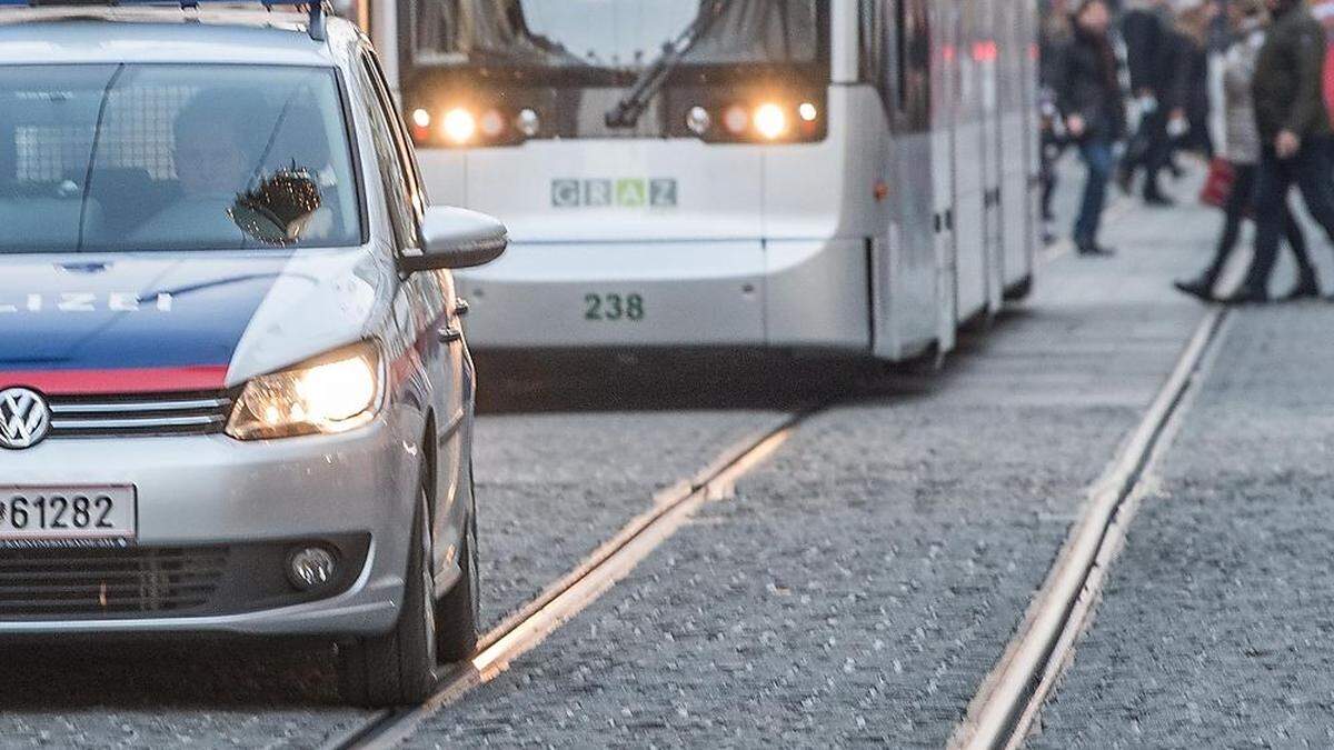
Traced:
<path id="1" fill-rule="evenodd" d="M 1269 276 L 1278 260 L 1278 242 L 1290 222 L 1287 191 L 1295 184 L 1302 191 L 1306 210 L 1325 235 L 1334 243 L 1334 179 L 1330 176 L 1330 143 L 1309 139 L 1291 159 L 1279 159 L 1266 147 L 1255 177 L 1255 260 L 1246 276 L 1246 291 L 1265 295 Z"/>

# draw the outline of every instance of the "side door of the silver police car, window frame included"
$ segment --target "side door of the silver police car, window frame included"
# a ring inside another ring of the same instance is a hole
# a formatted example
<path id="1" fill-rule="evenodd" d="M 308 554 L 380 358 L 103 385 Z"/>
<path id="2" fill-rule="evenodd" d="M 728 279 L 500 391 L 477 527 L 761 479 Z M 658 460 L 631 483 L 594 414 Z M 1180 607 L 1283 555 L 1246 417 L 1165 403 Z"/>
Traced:
<path id="1" fill-rule="evenodd" d="M 399 119 L 379 60 L 370 49 L 360 56 L 360 73 L 374 92 L 378 104 L 376 127 L 383 128 L 382 137 L 387 140 L 391 153 L 380 156 L 380 169 L 388 175 L 386 184 L 395 214 L 395 242 L 398 250 L 415 250 L 422 238 L 427 196 L 412 147 Z M 467 407 L 471 398 L 466 394 L 464 348 L 462 308 L 455 295 L 454 276 L 450 271 L 422 271 L 408 276 L 402 287 L 403 303 L 411 310 L 412 331 L 416 334 L 416 355 L 430 380 L 430 407 L 435 414 L 436 444 L 431 446 L 435 455 L 436 508 L 434 536 L 438 540 L 454 540 L 463 528 L 467 508 L 459 507 L 460 468 L 463 464 L 463 427 L 467 422 Z M 435 570 L 454 569 L 455 544 L 436 544 Z"/>

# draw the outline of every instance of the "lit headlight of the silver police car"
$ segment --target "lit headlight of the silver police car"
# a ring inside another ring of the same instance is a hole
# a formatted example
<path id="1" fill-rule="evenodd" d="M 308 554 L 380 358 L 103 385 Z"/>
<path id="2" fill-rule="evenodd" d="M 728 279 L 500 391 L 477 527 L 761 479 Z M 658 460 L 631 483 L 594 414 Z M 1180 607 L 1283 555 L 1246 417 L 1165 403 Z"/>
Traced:
<path id="1" fill-rule="evenodd" d="M 376 346 L 352 344 L 245 383 L 227 434 L 263 440 L 346 432 L 375 418 L 383 383 Z"/>

